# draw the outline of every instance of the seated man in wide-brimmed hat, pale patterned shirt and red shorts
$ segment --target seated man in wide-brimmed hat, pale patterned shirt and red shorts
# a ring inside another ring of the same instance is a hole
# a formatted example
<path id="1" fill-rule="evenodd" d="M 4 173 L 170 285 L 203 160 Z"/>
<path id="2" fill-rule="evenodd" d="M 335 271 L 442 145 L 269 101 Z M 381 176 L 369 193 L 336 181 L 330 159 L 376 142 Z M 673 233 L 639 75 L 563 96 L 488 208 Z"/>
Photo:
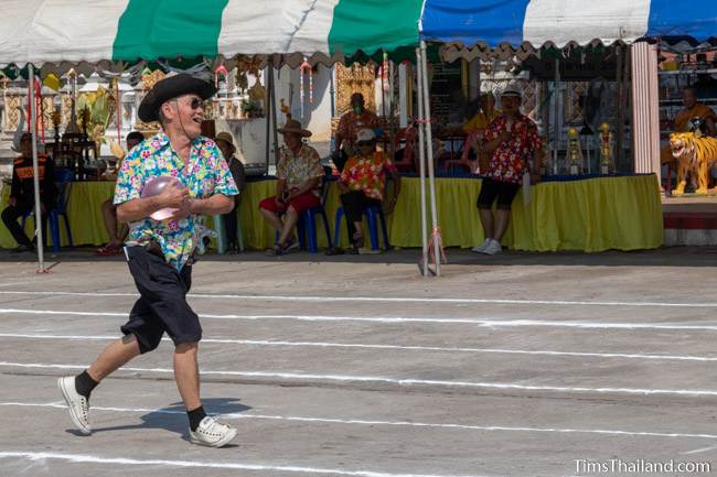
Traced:
<path id="1" fill-rule="evenodd" d="M 321 204 L 320 181 L 323 176 L 319 153 L 302 141 L 302 138 L 311 135 L 311 131 L 302 129 L 301 123 L 292 119 L 278 131 L 283 134 L 286 147 L 281 148 L 277 165 L 277 194 L 259 203 L 261 215 L 279 232 L 277 243 L 267 250 L 270 256 L 281 256 L 298 247 L 292 238 L 293 227 L 301 213 Z M 283 223 L 279 213 L 286 213 Z"/>

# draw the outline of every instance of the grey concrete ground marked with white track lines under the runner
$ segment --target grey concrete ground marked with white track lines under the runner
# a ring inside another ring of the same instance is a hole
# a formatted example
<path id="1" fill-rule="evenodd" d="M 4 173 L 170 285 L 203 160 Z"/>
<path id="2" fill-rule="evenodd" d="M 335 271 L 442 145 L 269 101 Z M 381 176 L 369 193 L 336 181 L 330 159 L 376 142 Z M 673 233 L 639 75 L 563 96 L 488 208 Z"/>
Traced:
<path id="1" fill-rule="evenodd" d="M 127 267 L 65 252 L 38 275 L 1 252 L 0 476 L 717 465 L 717 248 L 449 259 L 440 279 L 418 275 L 416 250 L 197 263 L 205 408 L 239 430 L 208 449 L 186 441 L 169 342 L 96 389 L 95 432 L 77 435 L 56 378 L 118 335 L 136 299 Z"/>

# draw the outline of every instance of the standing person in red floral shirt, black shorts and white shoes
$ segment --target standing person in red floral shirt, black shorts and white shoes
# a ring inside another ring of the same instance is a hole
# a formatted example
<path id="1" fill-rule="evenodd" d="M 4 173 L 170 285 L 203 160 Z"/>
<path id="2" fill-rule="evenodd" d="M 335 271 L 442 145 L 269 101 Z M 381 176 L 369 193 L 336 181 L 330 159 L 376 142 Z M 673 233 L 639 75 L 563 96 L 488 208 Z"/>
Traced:
<path id="1" fill-rule="evenodd" d="M 542 144 L 537 127 L 521 113 L 521 89 L 509 85 L 501 95 L 503 113 L 485 130 L 483 152 L 490 153 L 488 173 L 478 196 L 478 210 L 485 232 L 485 241 L 473 248 L 474 252 L 495 254 L 502 251 L 501 239 L 511 220 L 511 205 L 521 188 L 523 173 L 529 171 L 528 160 L 542 161 Z M 539 171 L 536 163 L 534 171 Z M 537 175 L 532 177 L 537 180 Z M 493 219 L 493 203 L 497 213 Z"/>

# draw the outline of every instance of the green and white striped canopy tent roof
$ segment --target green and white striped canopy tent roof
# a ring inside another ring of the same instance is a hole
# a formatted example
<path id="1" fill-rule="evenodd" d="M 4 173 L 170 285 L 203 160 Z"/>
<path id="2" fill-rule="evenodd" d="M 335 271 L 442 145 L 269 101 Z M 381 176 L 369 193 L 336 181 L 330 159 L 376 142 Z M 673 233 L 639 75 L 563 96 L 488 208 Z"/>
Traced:
<path id="1" fill-rule="evenodd" d="M 298 66 L 413 52 L 421 0 L 6 0 L 0 67 L 118 71 L 159 58 L 269 56 Z"/>

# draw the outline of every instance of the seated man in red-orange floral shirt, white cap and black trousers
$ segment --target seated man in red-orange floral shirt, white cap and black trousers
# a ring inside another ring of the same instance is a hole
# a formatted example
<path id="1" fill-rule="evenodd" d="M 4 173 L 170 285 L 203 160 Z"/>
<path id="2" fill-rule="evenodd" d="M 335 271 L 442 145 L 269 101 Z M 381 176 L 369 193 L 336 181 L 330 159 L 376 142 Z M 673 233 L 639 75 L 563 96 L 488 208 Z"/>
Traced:
<path id="1" fill-rule="evenodd" d="M 339 180 L 341 203 L 346 214 L 349 239 L 352 253 L 358 253 L 363 247 L 363 227 L 361 218 L 370 206 L 383 206 L 390 214 L 400 193 L 400 176 L 385 152 L 376 151 L 376 135 L 372 129 L 362 129 L 356 137 L 358 152 L 346 161 Z M 394 180 L 393 196 L 384 202 L 386 172 Z"/>

